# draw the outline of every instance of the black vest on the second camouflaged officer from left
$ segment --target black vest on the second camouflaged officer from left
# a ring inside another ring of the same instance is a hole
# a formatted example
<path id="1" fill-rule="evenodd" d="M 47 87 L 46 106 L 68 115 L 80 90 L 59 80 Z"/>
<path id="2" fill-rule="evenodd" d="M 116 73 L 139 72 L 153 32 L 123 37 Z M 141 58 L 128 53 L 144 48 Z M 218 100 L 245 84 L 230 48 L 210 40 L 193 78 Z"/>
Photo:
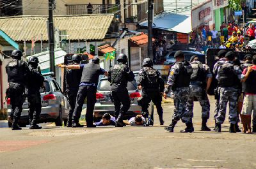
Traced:
<path id="1" fill-rule="evenodd" d="M 193 72 L 191 82 L 205 82 L 205 71 L 202 63 L 191 63 Z"/>

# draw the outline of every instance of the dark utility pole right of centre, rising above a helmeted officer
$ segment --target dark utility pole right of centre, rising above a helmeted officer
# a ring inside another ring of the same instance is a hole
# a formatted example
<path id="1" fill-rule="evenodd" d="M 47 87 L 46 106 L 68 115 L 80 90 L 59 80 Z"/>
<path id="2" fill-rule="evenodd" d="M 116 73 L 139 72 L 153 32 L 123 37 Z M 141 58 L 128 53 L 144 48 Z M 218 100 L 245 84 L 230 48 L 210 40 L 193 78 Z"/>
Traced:
<path id="1" fill-rule="evenodd" d="M 154 10 L 154 0 L 148 0 L 148 57 L 150 59 L 154 59 L 153 56 L 153 31 L 152 31 L 152 24 L 153 24 L 153 10 Z"/>

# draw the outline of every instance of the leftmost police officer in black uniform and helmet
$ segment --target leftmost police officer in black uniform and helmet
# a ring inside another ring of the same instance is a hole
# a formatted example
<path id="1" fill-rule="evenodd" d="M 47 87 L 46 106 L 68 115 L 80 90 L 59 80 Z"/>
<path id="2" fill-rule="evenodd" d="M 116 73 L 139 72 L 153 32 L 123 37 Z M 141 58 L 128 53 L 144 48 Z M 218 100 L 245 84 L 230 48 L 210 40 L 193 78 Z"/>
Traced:
<path id="1" fill-rule="evenodd" d="M 21 61 L 22 52 L 13 50 L 12 61 L 6 65 L 6 73 L 8 75 L 8 96 L 11 99 L 11 119 L 13 119 L 12 129 L 21 129 L 18 125 L 22 105 L 24 103 L 24 90 L 26 78 L 29 73 L 26 62 Z"/>

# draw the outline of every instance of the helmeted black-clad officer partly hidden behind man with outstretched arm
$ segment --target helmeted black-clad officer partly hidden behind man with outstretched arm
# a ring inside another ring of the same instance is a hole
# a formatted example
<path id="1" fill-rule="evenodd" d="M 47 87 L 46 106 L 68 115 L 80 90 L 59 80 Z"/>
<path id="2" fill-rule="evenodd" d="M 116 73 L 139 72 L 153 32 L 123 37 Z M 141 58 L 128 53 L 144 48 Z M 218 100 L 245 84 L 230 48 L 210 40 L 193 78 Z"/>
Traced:
<path id="1" fill-rule="evenodd" d="M 68 65 L 78 65 L 81 62 L 81 56 L 74 54 L 72 55 L 72 59 L 70 64 Z M 67 127 L 72 127 L 72 115 L 74 112 L 74 109 L 76 107 L 76 96 L 79 89 L 79 84 L 81 81 L 83 70 L 70 70 L 67 69 L 65 72 L 65 84 L 67 87 L 67 98 L 68 103 L 70 105 L 69 112 L 68 112 L 68 121 L 67 121 Z"/>

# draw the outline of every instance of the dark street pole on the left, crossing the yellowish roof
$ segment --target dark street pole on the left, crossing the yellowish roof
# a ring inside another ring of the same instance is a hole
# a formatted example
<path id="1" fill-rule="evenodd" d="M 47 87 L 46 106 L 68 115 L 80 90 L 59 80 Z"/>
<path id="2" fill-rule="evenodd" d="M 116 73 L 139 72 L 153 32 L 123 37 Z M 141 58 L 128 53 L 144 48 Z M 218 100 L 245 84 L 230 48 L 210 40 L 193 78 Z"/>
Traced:
<path id="1" fill-rule="evenodd" d="M 54 9 L 54 0 L 49 0 L 49 46 L 50 46 L 50 71 L 56 75 L 55 70 L 55 59 L 54 59 L 54 27 L 53 27 L 53 9 Z"/>

